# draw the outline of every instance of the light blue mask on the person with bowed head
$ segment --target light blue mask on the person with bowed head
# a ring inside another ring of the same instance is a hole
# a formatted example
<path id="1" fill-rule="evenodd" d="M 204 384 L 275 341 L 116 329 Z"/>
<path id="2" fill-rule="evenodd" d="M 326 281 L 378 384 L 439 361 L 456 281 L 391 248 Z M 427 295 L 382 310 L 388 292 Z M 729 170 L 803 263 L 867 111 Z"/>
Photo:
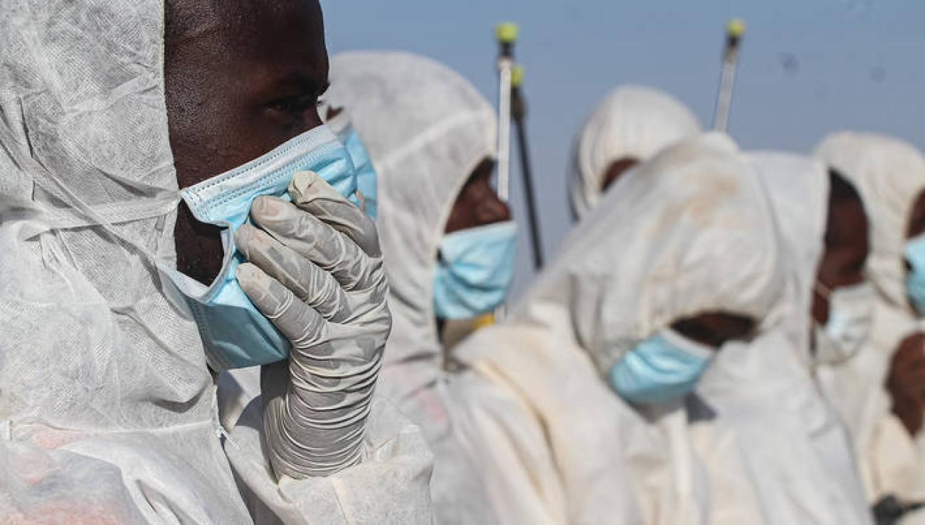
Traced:
<path id="1" fill-rule="evenodd" d="M 611 386 L 634 403 L 673 401 L 694 390 L 714 353 L 714 348 L 665 329 L 613 365 Z"/>

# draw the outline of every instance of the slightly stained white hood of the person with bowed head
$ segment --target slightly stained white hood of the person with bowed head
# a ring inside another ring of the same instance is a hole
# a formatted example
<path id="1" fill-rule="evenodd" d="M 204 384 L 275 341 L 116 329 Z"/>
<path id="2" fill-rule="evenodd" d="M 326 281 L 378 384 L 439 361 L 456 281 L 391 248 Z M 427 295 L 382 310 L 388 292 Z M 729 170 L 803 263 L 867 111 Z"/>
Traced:
<path id="1" fill-rule="evenodd" d="M 751 170 L 721 134 L 637 166 L 617 181 L 613 205 L 568 238 L 514 317 L 549 323 L 548 305 L 564 309 L 602 373 L 678 319 L 708 311 L 764 319 L 781 275 L 768 202 L 756 177 L 742 175 Z"/>

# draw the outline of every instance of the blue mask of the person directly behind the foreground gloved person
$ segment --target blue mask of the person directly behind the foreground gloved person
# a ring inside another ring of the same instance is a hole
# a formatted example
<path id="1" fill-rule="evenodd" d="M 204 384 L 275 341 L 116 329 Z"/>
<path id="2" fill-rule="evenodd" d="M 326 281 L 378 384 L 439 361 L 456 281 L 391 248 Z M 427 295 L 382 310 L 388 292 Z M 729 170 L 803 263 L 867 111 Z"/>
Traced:
<path id="1" fill-rule="evenodd" d="M 437 317 L 472 319 L 497 308 L 508 297 L 516 251 L 513 221 L 444 236 L 434 275 Z"/>

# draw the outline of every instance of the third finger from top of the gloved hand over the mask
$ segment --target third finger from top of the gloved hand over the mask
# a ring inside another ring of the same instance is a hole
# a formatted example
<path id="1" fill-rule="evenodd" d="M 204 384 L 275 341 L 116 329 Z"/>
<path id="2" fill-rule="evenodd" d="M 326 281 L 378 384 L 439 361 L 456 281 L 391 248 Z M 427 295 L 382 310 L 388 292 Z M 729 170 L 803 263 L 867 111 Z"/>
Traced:
<path id="1" fill-rule="evenodd" d="M 325 319 L 339 322 L 347 317 L 350 311 L 347 292 L 326 271 L 250 225 L 238 229 L 235 241 L 249 262 L 289 288 L 295 297 Z"/>

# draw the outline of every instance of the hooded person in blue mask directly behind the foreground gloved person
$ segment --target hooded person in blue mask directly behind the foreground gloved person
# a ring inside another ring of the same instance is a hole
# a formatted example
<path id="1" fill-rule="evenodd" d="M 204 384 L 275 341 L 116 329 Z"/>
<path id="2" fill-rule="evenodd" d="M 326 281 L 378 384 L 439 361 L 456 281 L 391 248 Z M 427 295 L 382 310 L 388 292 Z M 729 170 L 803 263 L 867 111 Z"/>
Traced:
<path id="1" fill-rule="evenodd" d="M 455 71 L 401 52 L 336 55 L 326 103 L 349 114 L 378 174 L 394 319 L 381 392 L 434 450 L 437 522 L 495 522 L 460 449 L 440 338 L 445 320 L 498 307 L 512 281 L 516 229 L 490 183 L 495 114 Z"/>

